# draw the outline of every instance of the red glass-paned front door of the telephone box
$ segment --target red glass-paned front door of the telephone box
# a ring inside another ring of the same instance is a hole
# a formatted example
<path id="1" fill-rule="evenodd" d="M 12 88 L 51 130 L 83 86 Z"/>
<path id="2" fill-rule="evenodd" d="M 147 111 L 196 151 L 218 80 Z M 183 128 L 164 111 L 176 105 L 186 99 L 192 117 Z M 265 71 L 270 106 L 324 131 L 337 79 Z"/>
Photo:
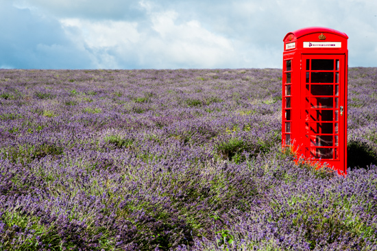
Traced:
<path id="1" fill-rule="evenodd" d="M 301 123 L 305 155 L 343 170 L 345 56 L 302 54 Z"/>

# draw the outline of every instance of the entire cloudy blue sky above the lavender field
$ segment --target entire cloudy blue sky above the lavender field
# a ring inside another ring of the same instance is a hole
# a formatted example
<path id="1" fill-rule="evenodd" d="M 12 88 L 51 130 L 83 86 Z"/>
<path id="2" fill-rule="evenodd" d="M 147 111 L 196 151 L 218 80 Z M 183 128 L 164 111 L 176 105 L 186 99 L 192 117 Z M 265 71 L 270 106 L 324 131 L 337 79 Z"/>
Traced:
<path id="1" fill-rule="evenodd" d="M 313 26 L 377 67 L 376 0 L 0 0 L 0 69 L 281 69 Z"/>

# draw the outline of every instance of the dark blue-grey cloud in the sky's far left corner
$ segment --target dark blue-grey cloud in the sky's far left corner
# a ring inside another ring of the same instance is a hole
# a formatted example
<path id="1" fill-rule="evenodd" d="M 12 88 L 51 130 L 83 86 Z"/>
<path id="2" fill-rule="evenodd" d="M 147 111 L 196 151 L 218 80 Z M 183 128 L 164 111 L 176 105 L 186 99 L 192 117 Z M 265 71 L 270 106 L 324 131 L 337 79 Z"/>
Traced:
<path id="1" fill-rule="evenodd" d="M 23 69 L 76 69 L 95 67 L 90 54 L 64 35 L 56 19 L 15 8 L 10 1 L 0 8 L 0 65 Z"/>

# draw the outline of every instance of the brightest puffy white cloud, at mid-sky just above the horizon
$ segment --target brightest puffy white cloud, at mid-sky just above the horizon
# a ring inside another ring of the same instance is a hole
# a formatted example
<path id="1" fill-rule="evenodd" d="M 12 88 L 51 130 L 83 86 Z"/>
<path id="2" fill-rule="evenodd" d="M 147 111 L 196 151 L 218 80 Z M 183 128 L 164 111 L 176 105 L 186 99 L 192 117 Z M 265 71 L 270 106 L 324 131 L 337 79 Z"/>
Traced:
<path id="1" fill-rule="evenodd" d="M 221 67 L 234 61 L 232 41 L 214 34 L 199 21 L 191 20 L 177 24 L 176 12 L 158 12 L 151 15 L 152 27 L 159 36 L 159 51 L 165 59 L 183 64 L 191 62 L 194 67 Z"/>

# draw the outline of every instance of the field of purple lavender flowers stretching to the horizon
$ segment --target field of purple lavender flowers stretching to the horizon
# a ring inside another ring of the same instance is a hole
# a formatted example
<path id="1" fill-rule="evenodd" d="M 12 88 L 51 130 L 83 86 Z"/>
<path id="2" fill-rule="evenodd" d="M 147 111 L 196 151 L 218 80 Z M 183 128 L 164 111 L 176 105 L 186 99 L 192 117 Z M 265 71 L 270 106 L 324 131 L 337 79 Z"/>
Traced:
<path id="1" fill-rule="evenodd" d="M 0 70 L 0 250 L 377 250 L 376 74 L 343 177 L 281 151 L 281 69 Z"/>

